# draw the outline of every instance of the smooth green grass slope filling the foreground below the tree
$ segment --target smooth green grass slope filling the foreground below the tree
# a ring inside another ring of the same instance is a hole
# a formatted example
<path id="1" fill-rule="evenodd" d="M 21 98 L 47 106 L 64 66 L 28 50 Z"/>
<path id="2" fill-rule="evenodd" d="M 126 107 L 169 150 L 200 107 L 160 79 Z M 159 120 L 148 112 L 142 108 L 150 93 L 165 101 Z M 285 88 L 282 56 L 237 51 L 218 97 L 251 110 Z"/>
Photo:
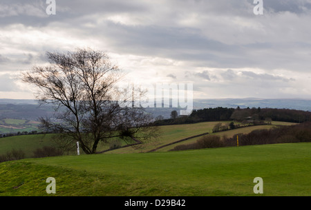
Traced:
<path id="1" fill-rule="evenodd" d="M 0 196 L 311 196 L 310 151 L 292 143 L 3 162 Z"/>

